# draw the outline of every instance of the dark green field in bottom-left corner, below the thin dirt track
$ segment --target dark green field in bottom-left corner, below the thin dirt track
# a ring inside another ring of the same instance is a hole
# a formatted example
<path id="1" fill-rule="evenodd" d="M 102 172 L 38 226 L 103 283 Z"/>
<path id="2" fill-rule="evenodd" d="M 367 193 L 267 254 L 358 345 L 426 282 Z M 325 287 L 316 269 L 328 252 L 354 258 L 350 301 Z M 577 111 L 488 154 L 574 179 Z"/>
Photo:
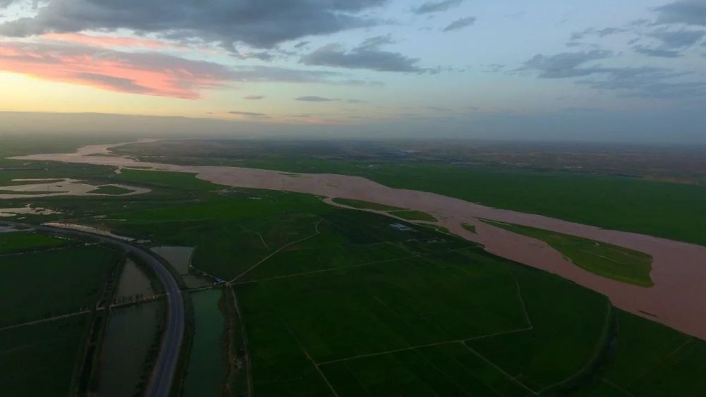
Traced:
<path id="1" fill-rule="evenodd" d="M 0 391 L 68 396 L 88 314 L 0 331 Z"/>

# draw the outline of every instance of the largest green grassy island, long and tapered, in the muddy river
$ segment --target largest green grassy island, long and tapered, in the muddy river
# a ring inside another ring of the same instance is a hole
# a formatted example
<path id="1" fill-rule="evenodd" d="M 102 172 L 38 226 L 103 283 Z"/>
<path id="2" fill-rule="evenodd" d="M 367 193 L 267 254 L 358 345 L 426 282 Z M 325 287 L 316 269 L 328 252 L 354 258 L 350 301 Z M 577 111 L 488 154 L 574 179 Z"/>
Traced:
<path id="1" fill-rule="evenodd" d="M 542 240 L 551 248 L 561 252 L 576 266 L 599 276 L 636 286 L 654 286 L 654 282 L 650 278 L 652 257 L 643 252 L 539 228 L 493 221 L 485 222 L 523 236 Z"/>

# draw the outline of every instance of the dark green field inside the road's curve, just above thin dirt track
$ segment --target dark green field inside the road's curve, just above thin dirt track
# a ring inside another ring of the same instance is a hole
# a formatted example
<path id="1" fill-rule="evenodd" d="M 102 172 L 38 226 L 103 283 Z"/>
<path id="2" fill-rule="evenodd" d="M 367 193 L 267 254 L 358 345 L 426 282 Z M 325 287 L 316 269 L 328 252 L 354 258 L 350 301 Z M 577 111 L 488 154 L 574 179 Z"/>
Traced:
<path id="1" fill-rule="evenodd" d="M 96 246 L 3 257 L 0 326 L 90 308 L 118 259 L 115 252 Z"/>

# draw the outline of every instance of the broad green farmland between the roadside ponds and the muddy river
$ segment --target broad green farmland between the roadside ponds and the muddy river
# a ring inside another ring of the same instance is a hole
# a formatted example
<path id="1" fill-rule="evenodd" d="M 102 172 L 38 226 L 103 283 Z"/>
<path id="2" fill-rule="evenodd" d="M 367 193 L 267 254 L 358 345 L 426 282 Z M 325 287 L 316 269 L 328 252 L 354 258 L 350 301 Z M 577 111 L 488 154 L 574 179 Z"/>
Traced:
<path id="1" fill-rule="evenodd" d="M 599 396 L 639 360 L 609 348 L 643 329 L 623 322 L 654 324 L 433 228 L 398 231 L 393 219 L 307 195 L 239 189 L 114 217 L 124 220 L 101 222 L 194 246 L 196 269 L 232 281 L 256 396 Z M 196 324 L 198 338 L 198 309 Z M 689 341 L 674 360 L 706 357 L 704 342 L 663 328 Z M 684 390 L 700 390 L 687 378 Z"/>

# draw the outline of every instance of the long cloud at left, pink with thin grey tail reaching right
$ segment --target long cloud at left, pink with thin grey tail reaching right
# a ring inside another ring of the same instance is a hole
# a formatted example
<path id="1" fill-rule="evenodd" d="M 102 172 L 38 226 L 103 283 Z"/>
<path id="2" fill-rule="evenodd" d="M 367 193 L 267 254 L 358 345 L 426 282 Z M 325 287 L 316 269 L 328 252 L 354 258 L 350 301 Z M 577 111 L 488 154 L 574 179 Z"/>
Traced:
<path id="1" fill-rule="evenodd" d="M 82 61 L 77 61 L 78 59 Z M 120 68 L 104 68 L 105 62 Z M 47 68 L 52 65 L 52 68 Z M 48 80 L 95 85 L 108 90 L 196 98 L 201 90 L 229 83 L 325 83 L 357 85 L 349 76 L 333 71 L 299 70 L 270 66 L 230 67 L 157 52 L 124 52 L 79 44 L 0 41 L 0 70 L 32 73 Z M 129 73 L 140 71 L 140 73 Z M 155 85 L 141 73 L 160 73 L 167 84 Z M 137 78 L 135 76 L 138 76 Z"/>

